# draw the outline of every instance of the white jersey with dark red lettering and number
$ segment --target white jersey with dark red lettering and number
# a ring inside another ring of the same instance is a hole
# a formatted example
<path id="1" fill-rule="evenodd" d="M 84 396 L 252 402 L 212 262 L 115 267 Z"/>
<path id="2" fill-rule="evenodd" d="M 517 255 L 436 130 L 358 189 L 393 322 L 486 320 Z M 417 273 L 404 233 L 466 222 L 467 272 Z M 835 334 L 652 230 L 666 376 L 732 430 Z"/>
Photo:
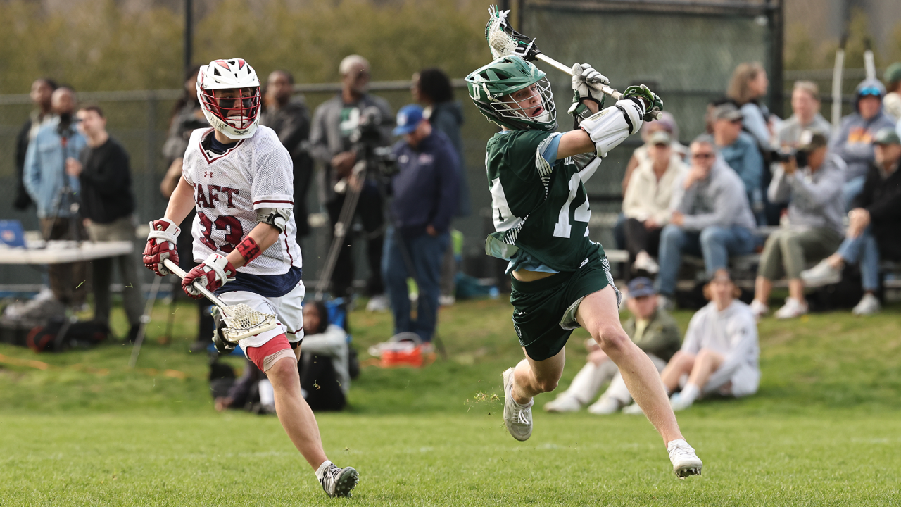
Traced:
<path id="1" fill-rule="evenodd" d="M 294 208 L 294 166 L 275 131 L 259 125 L 252 137 L 221 155 L 209 150 L 212 137 L 212 128 L 191 133 L 182 167 L 194 188 L 197 216 L 191 235 L 198 263 L 210 253 L 231 253 L 259 224 L 257 209 Z M 296 231 L 292 214 L 278 241 L 238 272 L 278 275 L 302 267 Z"/>

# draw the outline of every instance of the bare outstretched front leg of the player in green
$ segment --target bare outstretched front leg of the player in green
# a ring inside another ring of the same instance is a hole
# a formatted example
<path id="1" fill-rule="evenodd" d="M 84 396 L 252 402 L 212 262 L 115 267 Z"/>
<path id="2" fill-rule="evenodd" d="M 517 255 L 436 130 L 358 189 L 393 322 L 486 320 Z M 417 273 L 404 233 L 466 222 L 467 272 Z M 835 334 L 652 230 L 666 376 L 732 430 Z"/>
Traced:
<path id="1" fill-rule="evenodd" d="M 676 416 L 669 408 L 667 393 L 660 382 L 660 373 L 657 373 L 651 359 L 633 344 L 620 325 L 614 288 L 607 286 L 604 290 L 588 295 L 579 305 L 576 318 L 595 338 L 601 350 L 619 367 L 626 387 L 663 437 L 663 442 L 668 444 L 682 438 Z"/>

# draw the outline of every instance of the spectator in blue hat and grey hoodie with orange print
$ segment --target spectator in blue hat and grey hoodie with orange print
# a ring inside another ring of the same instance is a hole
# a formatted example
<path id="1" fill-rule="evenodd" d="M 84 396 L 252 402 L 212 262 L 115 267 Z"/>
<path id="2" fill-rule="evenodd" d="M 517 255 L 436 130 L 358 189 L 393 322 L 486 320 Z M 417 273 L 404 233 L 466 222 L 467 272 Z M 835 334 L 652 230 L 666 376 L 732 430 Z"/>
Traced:
<path id="1" fill-rule="evenodd" d="M 886 88 L 878 79 L 864 79 L 854 89 L 854 113 L 842 118 L 839 131 L 829 140 L 829 149 L 838 153 L 848 170 L 842 198 L 845 208 L 860 194 L 867 170 L 873 162 L 873 138 L 883 128 L 895 122 L 882 110 Z"/>

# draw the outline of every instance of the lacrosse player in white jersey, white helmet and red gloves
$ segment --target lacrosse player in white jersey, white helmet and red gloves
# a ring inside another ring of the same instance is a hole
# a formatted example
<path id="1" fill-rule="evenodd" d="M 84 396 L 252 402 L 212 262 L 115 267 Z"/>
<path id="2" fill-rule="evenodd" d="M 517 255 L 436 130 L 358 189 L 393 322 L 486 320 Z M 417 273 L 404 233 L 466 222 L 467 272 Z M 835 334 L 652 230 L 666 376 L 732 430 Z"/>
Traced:
<path id="1" fill-rule="evenodd" d="M 214 343 L 223 353 L 240 345 L 267 374 L 275 390 L 278 420 L 313 466 L 325 493 L 349 496 L 357 484 L 357 471 L 339 468 L 325 456 L 297 373 L 305 287 L 291 213 L 291 157 L 278 135 L 259 125 L 259 79 L 246 61 L 214 60 L 201 67 L 196 89 L 213 128 L 191 134 L 166 215 L 150 223 L 144 265 L 162 276 L 168 274 L 164 259 L 178 263 L 177 224 L 196 207 L 191 234 L 194 258 L 200 264 L 187 273 L 182 289 L 199 299 L 203 296 L 194 287 L 197 283 L 227 305 L 245 304 L 277 316 L 274 329 L 233 344 L 221 331 L 222 318 L 214 314 Z"/>

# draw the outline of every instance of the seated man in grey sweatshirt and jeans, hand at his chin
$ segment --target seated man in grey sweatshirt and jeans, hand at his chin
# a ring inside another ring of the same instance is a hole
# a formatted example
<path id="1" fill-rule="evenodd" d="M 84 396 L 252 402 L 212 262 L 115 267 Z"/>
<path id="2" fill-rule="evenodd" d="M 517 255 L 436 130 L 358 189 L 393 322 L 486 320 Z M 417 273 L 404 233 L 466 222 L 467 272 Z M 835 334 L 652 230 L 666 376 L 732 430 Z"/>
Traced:
<path id="1" fill-rule="evenodd" d="M 682 253 L 702 255 L 708 276 L 725 268 L 729 255 L 751 253 L 754 217 L 742 180 L 717 153 L 707 134 L 691 143 L 691 169 L 673 189 L 669 224 L 660 233 L 660 274 L 655 287 L 664 309 L 673 307 Z"/>

